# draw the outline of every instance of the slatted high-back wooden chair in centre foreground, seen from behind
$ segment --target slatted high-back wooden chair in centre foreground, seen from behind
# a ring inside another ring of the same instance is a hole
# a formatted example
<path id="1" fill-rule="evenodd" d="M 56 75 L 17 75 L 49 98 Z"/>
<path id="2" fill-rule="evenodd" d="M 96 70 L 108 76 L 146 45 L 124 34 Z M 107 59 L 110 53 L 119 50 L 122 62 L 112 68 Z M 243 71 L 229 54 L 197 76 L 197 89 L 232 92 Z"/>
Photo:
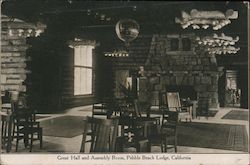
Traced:
<path id="1" fill-rule="evenodd" d="M 117 119 L 87 117 L 80 152 L 85 152 L 85 144 L 90 142 L 90 152 L 114 152 L 118 130 Z M 90 136 L 90 140 L 87 140 Z"/>

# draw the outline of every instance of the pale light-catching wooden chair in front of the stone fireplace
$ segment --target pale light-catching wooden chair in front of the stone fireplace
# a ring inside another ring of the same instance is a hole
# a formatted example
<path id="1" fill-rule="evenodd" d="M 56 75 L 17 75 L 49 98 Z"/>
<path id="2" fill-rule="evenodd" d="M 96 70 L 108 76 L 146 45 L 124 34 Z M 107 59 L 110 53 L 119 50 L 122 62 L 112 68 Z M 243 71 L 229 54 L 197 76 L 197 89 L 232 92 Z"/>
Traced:
<path id="1" fill-rule="evenodd" d="M 185 119 L 190 121 L 192 119 L 192 106 L 183 107 L 180 102 L 180 96 L 178 92 L 167 92 L 166 94 L 168 110 L 179 113 L 179 120 Z"/>

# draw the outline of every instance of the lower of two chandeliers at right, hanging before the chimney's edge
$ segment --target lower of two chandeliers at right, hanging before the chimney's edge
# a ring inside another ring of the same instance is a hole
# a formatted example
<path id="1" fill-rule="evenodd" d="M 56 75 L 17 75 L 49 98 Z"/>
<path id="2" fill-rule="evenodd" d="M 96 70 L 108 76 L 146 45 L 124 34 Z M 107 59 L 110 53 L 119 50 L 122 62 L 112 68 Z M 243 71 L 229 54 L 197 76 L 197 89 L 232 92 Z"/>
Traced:
<path id="1" fill-rule="evenodd" d="M 214 34 L 213 36 L 203 38 L 197 37 L 196 41 L 209 54 L 236 54 L 240 50 L 240 48 L 234 47 L 236 42 L 239 41 L 239 37 L 237 36 L 234 39 L 233 37 L 226 36 L 224 33 L 220 36 Z"/>

